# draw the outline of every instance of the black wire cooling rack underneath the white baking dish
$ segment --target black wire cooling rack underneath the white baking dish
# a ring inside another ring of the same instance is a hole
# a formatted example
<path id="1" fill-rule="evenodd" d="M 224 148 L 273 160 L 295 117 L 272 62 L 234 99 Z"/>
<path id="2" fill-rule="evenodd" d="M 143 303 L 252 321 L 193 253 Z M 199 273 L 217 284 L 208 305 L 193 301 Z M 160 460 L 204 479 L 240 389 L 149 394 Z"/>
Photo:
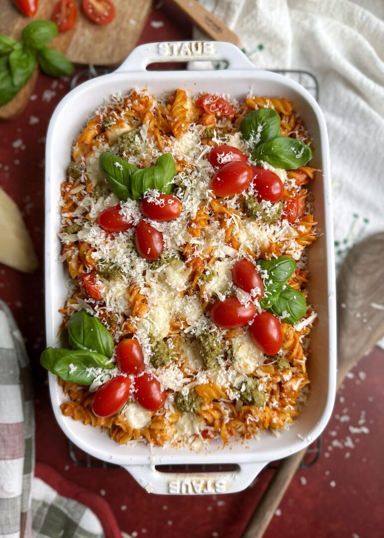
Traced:
<path id="1" fill-rule="evenodd" d="M 82 82 L 85 82 L 86 80 L 93 79 L 96 76 L 105 75 L 107 73 L 110 73 L 111 70 L 108 68 L 100 68 L 95 67 L 93 65 L 89 65 L 86 69 L 83 69 L 82 71 L 79 71 L 75 74 L 73 77 L 71 83 L 70 83 L 70 89 L 75 88 L 76 86 L 79 86 Z M 298 82 L 301 86 L 303 86 L 311 95 L 318 101 L 319 96 L 319 88 L 318 88 L 318 82 L 316 80 L 316 77 L 312 75 L 311 73 L 308 73 L 307 71 L 300 71 L 295 69 L 274 69 L 274 73 L 280 73 L 281 75 L 284 75 L 288 77 L 291 80 L 294 80 Z M 308 469 L 312 465 L 315 465 L 315 463 L 318 461 L 320 455 L 321 455 L 321 437 L 318 437 L 317 440 L 309 445 L 309 448 L 307 452 L 305 453 L 305 456 L 299 466 L 300 469 Z M 80 467 L 87 467 L 89 469 L 109 469 L 113 467 L 118 467 L 119 465 L 115 465 L 113 463 L 107 463 L 102 461 L 101 459 L 94 458 L 93 456 L 90 456 L 80 448 L 77 448 L 76 445 L 72 443 L 72 441 L 68 441 L 68 450 L 69 450 L 69 457 L 72 460 L 72 462 L 75 465 L 78 465 Z M 275 461 L 268 463 L 266 465 L 265 469 L 273 469 L 276 470 L 279 467 L 280 461 Z M 159 471 L 162 472 L 225 472 L 225 471 L 234 471 L 238 469 L 238 465 L 236 464 L 220 464 L 220 465 L 157 465 L 156 468 Z"/>

